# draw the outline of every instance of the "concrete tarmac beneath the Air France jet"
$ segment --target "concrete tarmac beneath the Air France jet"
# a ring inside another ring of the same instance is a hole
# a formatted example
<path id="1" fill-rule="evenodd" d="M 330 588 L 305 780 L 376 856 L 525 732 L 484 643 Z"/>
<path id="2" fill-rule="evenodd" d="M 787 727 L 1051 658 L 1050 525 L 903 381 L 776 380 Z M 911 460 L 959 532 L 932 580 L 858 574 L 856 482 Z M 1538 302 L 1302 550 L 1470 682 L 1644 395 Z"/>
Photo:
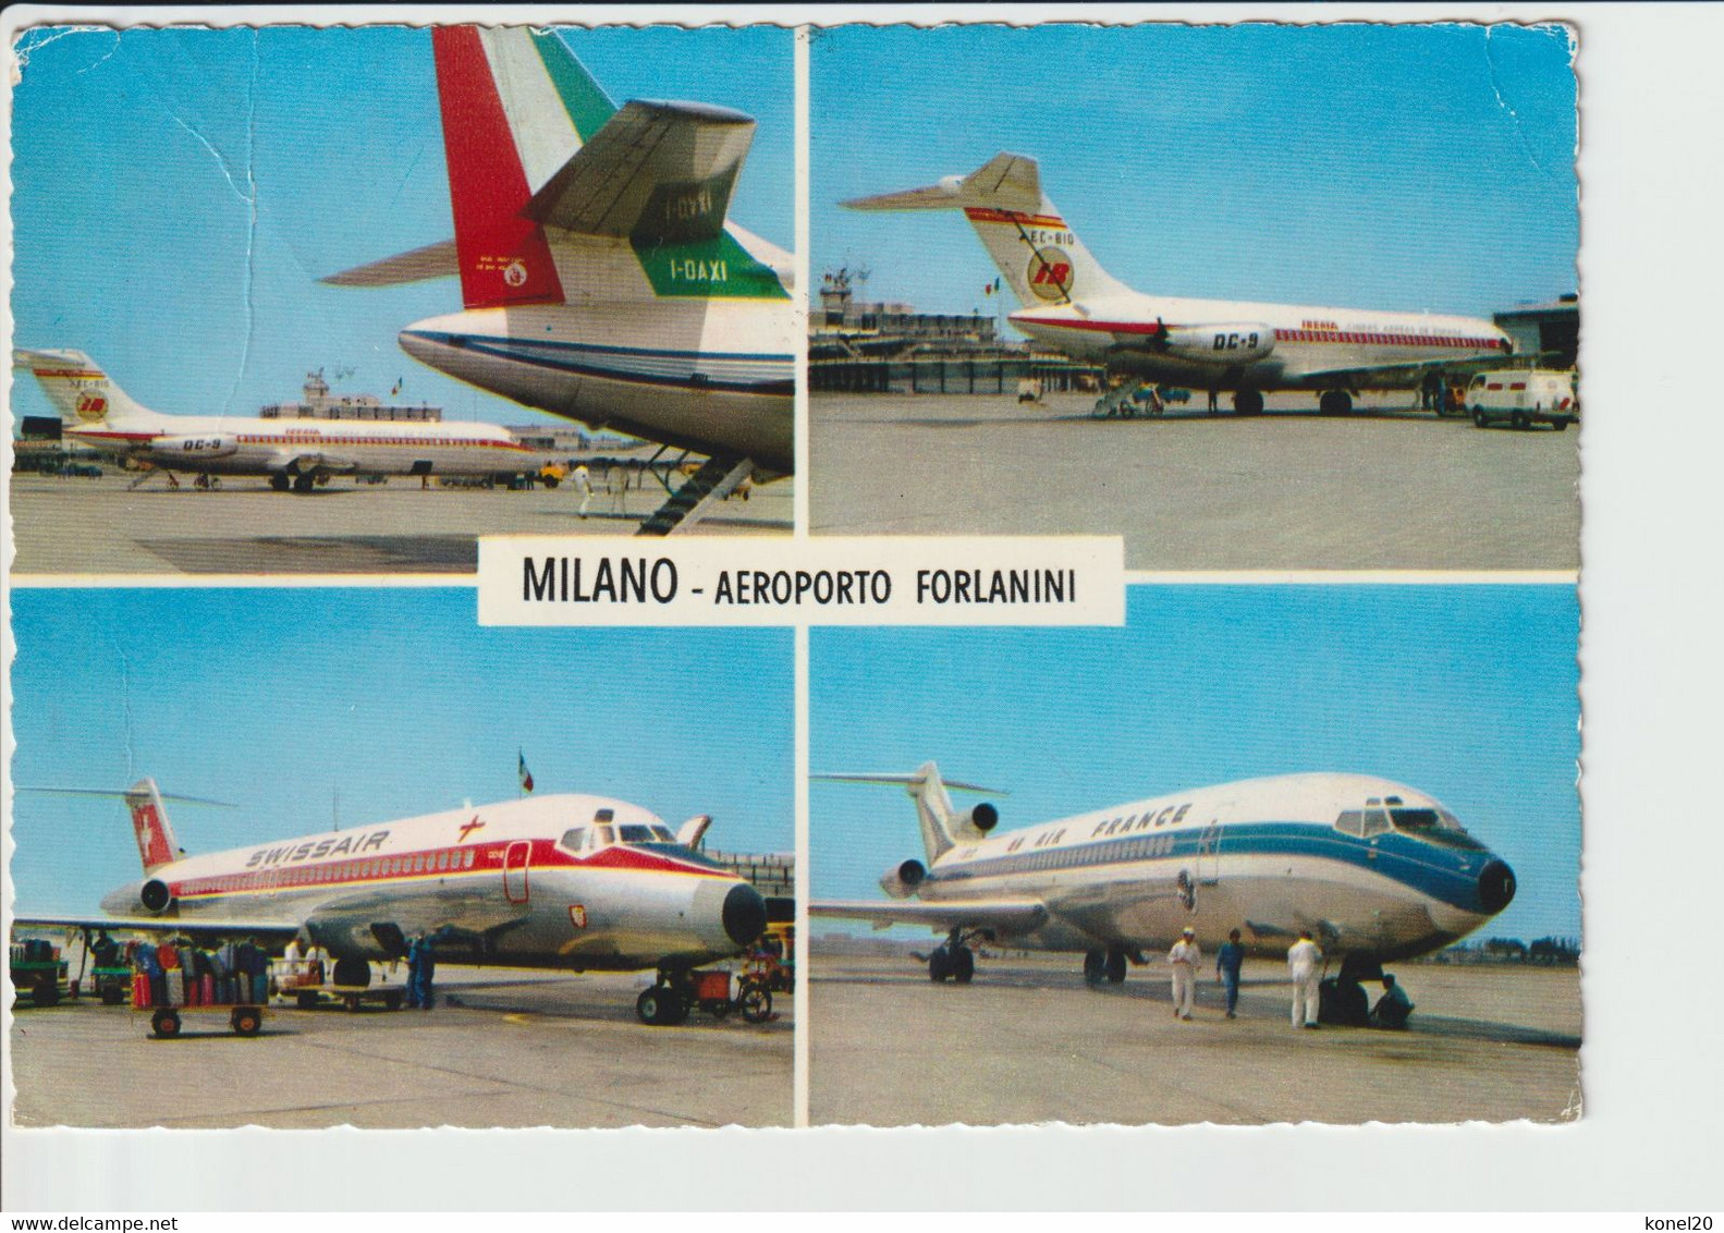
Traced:
<path id="1" fill-rule="evenodd" d="M 931 945 L 931 943 L 929 943 Z M 1295 1030 L 1286 964 L 1250 961 L 1224 1017 L 1214 961 L 1191 1023 L 1165 964 L 1086 988 L 1079 955 L 983 959 L 967 986 L 914 959 L 809 967 L 810 1123 L 1565 1121 L 1581 1107 L 1579 973 L 1400 964 L 1409 1031 Z M 1379 986 L 1365 986 L 1381 992 Z"/>

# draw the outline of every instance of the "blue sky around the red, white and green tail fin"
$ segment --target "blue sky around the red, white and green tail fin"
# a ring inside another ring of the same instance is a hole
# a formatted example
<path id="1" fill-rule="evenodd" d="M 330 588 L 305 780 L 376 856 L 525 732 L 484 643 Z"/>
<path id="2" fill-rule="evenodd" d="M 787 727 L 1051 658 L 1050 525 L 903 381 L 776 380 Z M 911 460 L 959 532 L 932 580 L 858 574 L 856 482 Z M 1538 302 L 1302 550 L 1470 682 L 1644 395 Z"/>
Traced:
<path id="1" fill-rule="evenodd" d="M 688 98 L 753 116 L 731 217 L 793 247 L 788 31 L 564 40 L 619 103 Z M 460 309 L 455 279 L 317 283 L 453 235 L 429 31 L 31 31 L 22 43 L 34 47 L 12 95 L 16 341 L 88 352 L 162 412 L 250 416 L 298 398 L 322 367 L 352 369 L 341 393 L 386 395 L 405 376 L 403 398 L 452 419 L 540 419 L 400 350 L 403 326 Z M 28 378 L 16 405 L 50 414 Z"/>

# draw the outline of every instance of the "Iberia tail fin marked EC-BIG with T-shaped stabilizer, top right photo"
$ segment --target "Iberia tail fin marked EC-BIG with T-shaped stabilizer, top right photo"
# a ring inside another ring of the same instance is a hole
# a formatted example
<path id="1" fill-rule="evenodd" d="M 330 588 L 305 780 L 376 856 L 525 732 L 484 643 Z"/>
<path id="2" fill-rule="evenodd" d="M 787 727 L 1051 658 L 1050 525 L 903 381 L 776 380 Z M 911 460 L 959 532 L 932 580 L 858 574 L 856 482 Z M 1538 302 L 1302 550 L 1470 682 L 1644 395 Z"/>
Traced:
<path id="1" fill-rule="evenodd" d="M 1127 290 L 1102 269 L 1041 191 L 1034 159 L 996 153 L 967 176 L 928 188 L 860 197 L 852 210 L 964 210 L 988 255 L 1026 307 L 1093 300 Z"/>

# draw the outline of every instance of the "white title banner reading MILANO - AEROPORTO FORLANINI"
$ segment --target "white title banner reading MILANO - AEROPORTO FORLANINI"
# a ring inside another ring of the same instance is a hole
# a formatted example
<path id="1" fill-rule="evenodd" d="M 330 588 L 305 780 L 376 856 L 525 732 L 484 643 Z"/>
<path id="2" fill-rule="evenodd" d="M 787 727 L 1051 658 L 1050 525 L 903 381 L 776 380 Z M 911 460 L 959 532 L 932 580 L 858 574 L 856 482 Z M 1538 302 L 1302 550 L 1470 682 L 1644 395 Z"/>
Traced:
<path id="1" fill-rule="evenodd" d="M 1124 621 L 1119 536 L 479 540 L 479 624 Z"/>

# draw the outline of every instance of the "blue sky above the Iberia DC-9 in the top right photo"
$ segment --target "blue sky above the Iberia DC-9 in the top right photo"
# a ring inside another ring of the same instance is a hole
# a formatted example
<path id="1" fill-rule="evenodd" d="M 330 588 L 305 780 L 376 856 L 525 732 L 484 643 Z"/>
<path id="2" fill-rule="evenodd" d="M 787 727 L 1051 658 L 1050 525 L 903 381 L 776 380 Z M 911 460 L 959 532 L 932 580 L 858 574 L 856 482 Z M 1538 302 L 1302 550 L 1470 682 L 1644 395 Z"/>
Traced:
<path id="1" fill-rule="evenodd" d="M 836 202 L 1010 150 L 1141 291 L 1464 314 L 1555 298 L 1577 278 L 1569 50 L 1555 26 L 828 31 L 814 274 L 862 264 L 867 298 L 995 310 L 960 214 Z"/>

